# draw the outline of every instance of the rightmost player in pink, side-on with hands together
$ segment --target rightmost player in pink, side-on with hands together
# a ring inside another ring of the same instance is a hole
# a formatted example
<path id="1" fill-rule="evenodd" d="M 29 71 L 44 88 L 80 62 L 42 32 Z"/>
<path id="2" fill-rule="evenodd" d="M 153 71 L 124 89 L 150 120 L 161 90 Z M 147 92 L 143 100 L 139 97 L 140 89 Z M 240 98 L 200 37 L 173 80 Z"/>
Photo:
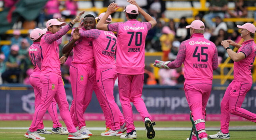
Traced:
<path id="1" fill-rule="evenodd" d="M 252 87 L 251 69 L 256 56 L 256 44 L 253 40 L 256 27 L 252 23 L 237 25 L 241 30 L 241 37 L 244 39 L 242 45 L 232 40 L 223 40 L 221 45 L 227 50 L 229 57 L 234 61 L 234 80 L 229 84 L 221 101 L 221 130 L 211 139 L 230 139 L 228 127 L 230 113 L 243 117 L 249 121 L 256 122 L 256 114 L 241 108 L 246 93 Z M 238 48 L 234 52 L 229 45 Z"/>

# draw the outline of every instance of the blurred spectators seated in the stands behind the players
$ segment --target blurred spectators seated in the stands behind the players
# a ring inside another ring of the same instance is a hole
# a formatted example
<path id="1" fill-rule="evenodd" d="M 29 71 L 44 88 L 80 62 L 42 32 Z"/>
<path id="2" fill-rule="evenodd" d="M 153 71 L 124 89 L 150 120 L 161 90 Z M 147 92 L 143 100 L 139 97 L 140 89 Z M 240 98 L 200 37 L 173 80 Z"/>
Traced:
<path id="1" fill-rule="evenodd" d="M 124 6 L 126 0 L 104 0 L 109 2 L 120 3 L 120 7 Z M 12 7 L 17 0 L 4 0 L 4 5 Z M 91 0 L 92 6 L 95 6 L 95 1 Z M 179 22 L 174 19 L 167 19 L 165 16 L 165 1 L 162 0 L 140 0 L 138 2 L 150 15 L 157 20 L 157 25 L 148 31 L 145 42 L 145 51 L 148 52 L 163 52 L 162 60 L 174 60 L 179 51 L 180 43 L 190 37 L 189 29 L 186 29 L 187 17 L 181 17 Z M 223 22 L 225 17 L 246 17 L 247 4 L 243 0 L 235 2 L 234 10 L 228 10 L 227 0 L 211 0 L 209 12 L 200 13 L 195 16 L 195 19 L 203 20 L 206 27 L 204 37 L 215 43 L 218 49 L 219 62 L 224 62 L 227 58 L 226 51 L 221 47 L 221 41 L 232 39 L 239 42 L 241 37 L 239 31 L 234 28 L 232 34 L 228 34 L 228 25 Z M 64 9 L 64 10 L 63 10 Z M 36 19 L 36 27 L 45 28 L 45 22 L 52 18 L 74 18 L 78 10 L 77 1 L 74 0 L 48 0 L 43 10 Z M 255 12 L 256 13 L 256 12 Z M 99 13 L 92 13 L 97 16 Z M 256 14 L 255 14 L 256 15 Z M 139 16 L 140 20 L 145 19 Z M 212 20 L 212 19 L 215 20 Z M 256 17 L 255 17 L 256 18 Z M 15 28 L 19 28 L 16 26 Z M 22 27 L 21 27 L 22 29 Z M 8 38 L 8 37 L 7 37 Z M 67 37 L 68 38 L 68 37 Z M 29 84 L 28 76 L 32 73 L 32 64 L 28 56 L 28 48 L 32 44 L 32 40 L 28 35 L 21 35 L 20 30 L 14 30 L 13 36 L 8 38 L 11 45 L 1 46 L 0 53 L 0 84 L 4 83 L 24 83 Z M 7 40 L 8 40 L 7 39 Z M 63 41 L 64 42 L 64 41 Z M 61 47 L 61 46 L 60 46 Z M 60 51 L 61 52 L 61 51 Z M 60 54 L 62 56 L 62 54 Z M 65 83 L 70 82 L 69 67 L 71 65 L 72 53 L 67 59 L 66 64 L 61 66 L 62 76 Z M 183 69 L 161 69 L 159 70 L 158 83 L 161 85 L 176 85 L 184 82 Z M 25 79 L 25 80 L 24 80 Z M 151 67 L 145 67 L 145 82 L 144 84 L 156 84 L 154 74 Z"/>

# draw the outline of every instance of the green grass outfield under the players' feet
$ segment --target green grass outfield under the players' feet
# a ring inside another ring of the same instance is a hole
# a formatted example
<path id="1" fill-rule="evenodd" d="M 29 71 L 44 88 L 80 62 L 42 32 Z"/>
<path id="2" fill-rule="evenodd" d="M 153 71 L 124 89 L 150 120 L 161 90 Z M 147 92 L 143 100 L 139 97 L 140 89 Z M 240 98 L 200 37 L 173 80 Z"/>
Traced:
<path id="1" fill-rule="evenodd" d="M 61 121 L 62 125 L 65 126 L 64 122 Z M 29 127 L 31 121 L 0 121 L 0 127 Z M 87 127 L 104 127 L 103 121 L 87 121 Z M 143 122 L 134 122 L 136 127 L 144 127 Z M 52 127 L 51 121 L 44 121 L 45 127 Z M 155 127 L 190 127 L 191 122 L 188 121 L 163 121 L 156 122 Z M 206 123 L 206 127 L 219 127 L 220 122 L 209 121 Z M 255 123 L 249 121 L 243 122 L 230 122 L 230 126 L 255 126 Z M 51 129 L 49 129 L 51 131 Z M 24 139 L 24 134 L 26 129 L 0 129 L 0 139 Z M 90 139 L 120 139 L 119 137 L 103 137 L 100 136 L 102 130 L 91 130 L 93 136 Z M 208 135 L 215 134 L 216 131 L 207 131 Z M 156 130 L 156 136 L 154 139 L 164 140 L 164 139 L 186 139 L 190 134 L 190 131 L 183 130 Z M 67 135 L 41 135 L 46 139 L 67 139 Z M 231 139 L 255 139 L 256 133 L 253 131 L 230 131 Z M 146 132 L 144 130 L 137 130 L 137 139 L 147 139 Z"/>

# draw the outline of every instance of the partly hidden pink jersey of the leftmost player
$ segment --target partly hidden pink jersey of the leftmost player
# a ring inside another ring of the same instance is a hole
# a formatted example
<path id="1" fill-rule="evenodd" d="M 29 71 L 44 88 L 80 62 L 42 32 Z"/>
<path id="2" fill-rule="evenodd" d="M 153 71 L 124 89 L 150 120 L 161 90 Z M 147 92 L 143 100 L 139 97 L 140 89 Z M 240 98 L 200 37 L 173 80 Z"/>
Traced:
<path id="1" fill-rule="evenodd" d="M 40 72 L 38 65 L 35 63 L 35 58 L 40 49 L 40 42 L 33 42 L 33 44 L 29 47 L 28 55 L 30 57 L 30 61 L 34 66 L 34 72 Z"/>

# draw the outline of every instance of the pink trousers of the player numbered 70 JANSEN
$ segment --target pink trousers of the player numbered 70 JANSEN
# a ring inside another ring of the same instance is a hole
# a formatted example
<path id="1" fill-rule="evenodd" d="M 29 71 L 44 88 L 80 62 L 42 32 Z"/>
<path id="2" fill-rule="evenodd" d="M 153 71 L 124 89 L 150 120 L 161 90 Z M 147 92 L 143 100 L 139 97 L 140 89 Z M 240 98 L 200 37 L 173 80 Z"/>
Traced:
<path id="1" fill-rule="evenodd" d="M 152 117 L 148 113 L 146 105 L 143 99 L 141 98 L 144 74 L 126 75 L 126 74 L 118 73 L 117 77 L 118 77 L 119 98 L 122 104 L 125 123 L 127 127 L 127 133 L 129 133 L 132 130 L 135 130 L 135 127 L 133 124 L 132 107 L 130 104 L 131 102 L 140 113 L 143 122 L 146 117 L 148 117 L 152 121 Z"/>

